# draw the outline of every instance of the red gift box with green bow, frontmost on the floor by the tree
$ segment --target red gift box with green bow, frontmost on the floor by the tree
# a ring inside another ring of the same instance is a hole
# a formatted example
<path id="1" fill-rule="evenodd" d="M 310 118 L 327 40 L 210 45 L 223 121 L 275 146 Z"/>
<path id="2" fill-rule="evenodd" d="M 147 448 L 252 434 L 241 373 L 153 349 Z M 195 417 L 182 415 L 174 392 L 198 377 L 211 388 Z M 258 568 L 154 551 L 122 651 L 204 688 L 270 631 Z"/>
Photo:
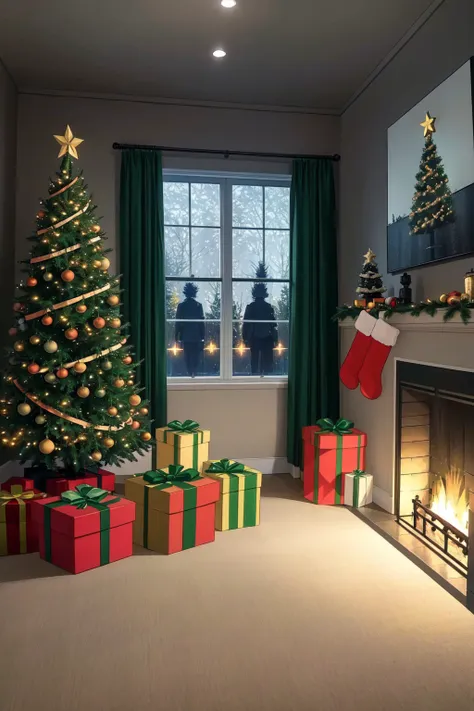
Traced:
<path id="1" fill-rule="evenodd" d="M 135 504 L 105 489 L 79 484 L 33 502 L 42 558 L 82 573 L 132 555 Z"/>

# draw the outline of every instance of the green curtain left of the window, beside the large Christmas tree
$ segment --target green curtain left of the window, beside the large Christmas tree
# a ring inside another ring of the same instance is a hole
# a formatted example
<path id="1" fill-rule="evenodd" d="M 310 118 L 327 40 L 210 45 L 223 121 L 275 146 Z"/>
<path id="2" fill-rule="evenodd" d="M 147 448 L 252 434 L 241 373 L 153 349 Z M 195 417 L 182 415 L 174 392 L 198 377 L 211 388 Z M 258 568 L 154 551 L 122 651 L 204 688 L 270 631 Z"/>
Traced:
<path id="1" fill-rule="evenodd" d="M 125 150 L 120 173 L 124 315 L 155 427 L 167 421 L 163 170 L 158 151 Z"/>

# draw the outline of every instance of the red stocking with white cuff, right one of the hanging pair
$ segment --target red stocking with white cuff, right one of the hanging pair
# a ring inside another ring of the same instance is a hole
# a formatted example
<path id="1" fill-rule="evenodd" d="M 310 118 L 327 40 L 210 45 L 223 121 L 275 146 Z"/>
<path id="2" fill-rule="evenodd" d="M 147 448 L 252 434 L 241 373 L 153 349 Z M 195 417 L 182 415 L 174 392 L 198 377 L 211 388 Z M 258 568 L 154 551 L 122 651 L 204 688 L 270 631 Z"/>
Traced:
<path id="1" fill-rule="evenodd" d="M 400 331 L 383 319 L 378 319 L 372 331 L 370 348 L 359 373 L 360 391 L 369 400 L 382 394 L 382 371 Z"/>

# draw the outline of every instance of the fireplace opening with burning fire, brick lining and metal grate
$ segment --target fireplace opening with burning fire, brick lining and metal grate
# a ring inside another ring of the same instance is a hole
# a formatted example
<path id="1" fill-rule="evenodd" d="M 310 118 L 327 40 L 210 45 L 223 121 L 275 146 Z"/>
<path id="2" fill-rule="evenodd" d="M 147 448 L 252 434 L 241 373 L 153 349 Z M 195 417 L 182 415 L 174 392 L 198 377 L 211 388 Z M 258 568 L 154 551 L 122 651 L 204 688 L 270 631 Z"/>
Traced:
<path id="1" fill-rule="evenodd" d="M 397 521 L 467 576 L 474 372 L 398 360 L 396 434 Z"/>

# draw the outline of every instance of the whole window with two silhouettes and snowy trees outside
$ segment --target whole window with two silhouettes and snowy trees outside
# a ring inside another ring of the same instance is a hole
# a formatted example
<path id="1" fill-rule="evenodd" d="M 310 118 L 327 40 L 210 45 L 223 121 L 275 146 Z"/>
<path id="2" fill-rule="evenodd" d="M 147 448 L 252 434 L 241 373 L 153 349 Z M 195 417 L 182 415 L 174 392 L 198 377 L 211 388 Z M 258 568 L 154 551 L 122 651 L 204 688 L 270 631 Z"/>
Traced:
<path id="1" fill-rule="evenodd" d="M 286 377 L 289 178 L 165 175 L 168 376 Z"/>

